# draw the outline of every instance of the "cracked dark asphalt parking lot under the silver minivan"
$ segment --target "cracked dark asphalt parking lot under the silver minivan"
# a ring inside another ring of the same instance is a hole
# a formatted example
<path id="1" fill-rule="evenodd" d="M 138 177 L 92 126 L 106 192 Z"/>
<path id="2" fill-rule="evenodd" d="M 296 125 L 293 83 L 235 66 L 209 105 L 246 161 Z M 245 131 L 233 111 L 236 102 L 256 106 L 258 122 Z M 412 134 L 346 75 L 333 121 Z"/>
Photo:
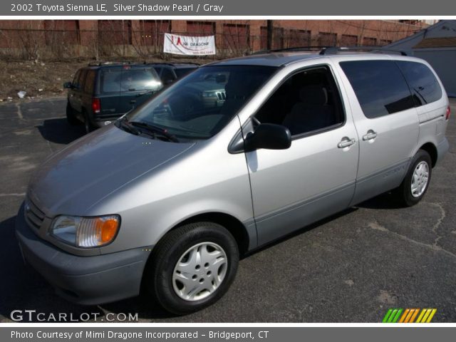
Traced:
<path id="1" fill-rule="evenodd" d="M 434 322 L 456 321 L 456 100 L 450 152 L 432 170 L 423 202 L 398 208 L 382 195 L 302 229 L 244 258 L 222 300 L 182 317 L 147 298 L 76 306 L 24 265 L 14 220 L 28 179 L 46 156 L 83 135 L 67 125 L 65 105 L 63 98 L 0 105 L 0 321 L 33 309 L 102 318 L 138 312 L 147 322 L 380 322 L 394 307 L 436 308 Z"/>

